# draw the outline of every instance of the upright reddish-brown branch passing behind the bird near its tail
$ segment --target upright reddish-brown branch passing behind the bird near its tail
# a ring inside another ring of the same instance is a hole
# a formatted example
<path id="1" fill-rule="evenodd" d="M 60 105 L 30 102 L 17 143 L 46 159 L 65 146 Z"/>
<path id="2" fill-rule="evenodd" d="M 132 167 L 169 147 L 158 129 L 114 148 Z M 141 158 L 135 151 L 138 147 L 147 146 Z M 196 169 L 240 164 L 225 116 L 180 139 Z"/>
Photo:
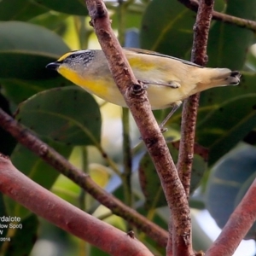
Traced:
<path id="1" fill-rule="evenodd" d="M 202 0 L 198 9 L 194 26 L 194 43 L 191 61 L 205 66 L 207 63 L 207 40 L 212 20 L 213 0 Z M 195 123 L 199 94 L 186 99 L 183 103 L 181 142 L 177 160 L 177 170 L 183 182 L 186 195 L 189 197 L 191 168 L 194 158 Z"/>

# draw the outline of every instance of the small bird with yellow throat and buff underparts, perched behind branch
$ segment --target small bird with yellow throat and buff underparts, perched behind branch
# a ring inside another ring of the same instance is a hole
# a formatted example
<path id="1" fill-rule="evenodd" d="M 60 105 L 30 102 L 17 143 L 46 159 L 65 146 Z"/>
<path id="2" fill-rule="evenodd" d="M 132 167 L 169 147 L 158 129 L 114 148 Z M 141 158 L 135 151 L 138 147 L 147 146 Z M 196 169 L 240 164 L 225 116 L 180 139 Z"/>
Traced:
<path id="1" fill-rule="evenodd" d="M 173 107 L 173 113 L 188 96 L 213 87 L 236 85 L 240 82 L 241 73 L 228 68 L 201 67 L 193 62 L 145 49 L 123 50 L 137 80 L 147 85 L 152 109 Z M 71 51 L 46 67 L 56 70 L 90 94 L 127 107 L 113 81 L 108 61 L 100 49 Z"/>

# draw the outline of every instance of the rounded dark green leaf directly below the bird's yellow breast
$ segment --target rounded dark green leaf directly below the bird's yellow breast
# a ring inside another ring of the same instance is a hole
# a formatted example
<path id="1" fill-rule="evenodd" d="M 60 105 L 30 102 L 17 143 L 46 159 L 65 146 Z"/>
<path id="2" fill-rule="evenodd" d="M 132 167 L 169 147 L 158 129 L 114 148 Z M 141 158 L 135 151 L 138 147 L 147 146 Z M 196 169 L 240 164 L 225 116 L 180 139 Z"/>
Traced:
<path id="1" fill-rule="evenodd" d="M 46 90 L 20 104 L 16 115 L 39 136 L 70 145 L 101 140 L 101 113 L 90 94 L 78 86 Z"/>

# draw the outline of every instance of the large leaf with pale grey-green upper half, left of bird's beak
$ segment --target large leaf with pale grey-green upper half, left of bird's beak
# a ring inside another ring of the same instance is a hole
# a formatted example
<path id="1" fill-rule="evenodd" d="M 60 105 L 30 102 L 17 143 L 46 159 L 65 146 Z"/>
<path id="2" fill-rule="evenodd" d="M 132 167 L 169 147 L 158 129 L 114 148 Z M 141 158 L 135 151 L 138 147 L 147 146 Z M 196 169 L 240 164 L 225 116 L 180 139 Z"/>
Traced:
<path id="1" fill-rule="evenodd" d="M 45 69 L 68 51 L 55 33 L 20 21 L 0 22 L 0 79 L 55 79 Z"/>

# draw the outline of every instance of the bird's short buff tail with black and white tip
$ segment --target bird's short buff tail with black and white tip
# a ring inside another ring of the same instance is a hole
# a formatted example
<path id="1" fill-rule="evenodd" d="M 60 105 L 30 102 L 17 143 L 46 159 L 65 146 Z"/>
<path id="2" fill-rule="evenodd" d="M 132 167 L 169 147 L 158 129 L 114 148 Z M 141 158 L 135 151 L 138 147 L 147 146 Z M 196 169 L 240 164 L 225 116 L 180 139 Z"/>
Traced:
<path id="1" fill-rule="evenodd" d="M 212 87 L 237 85 L 240 83 L 241 73 L 231 71 L 228 68 L 203 68 L 201 70 L 201 90 L 207 90 Z"/>

